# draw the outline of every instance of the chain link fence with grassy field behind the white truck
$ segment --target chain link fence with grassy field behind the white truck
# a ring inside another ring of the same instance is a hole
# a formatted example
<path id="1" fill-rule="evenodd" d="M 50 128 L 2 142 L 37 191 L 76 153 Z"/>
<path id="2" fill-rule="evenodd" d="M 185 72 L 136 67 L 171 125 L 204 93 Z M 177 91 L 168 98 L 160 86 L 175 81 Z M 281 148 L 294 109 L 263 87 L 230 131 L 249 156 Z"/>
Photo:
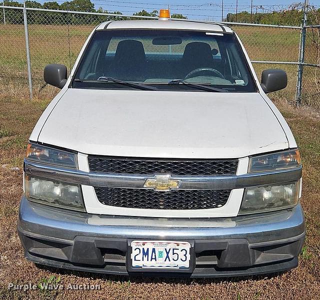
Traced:
<path id="1" fill-rule="evenodd" d="M 86 13 L 26 8 L 28 41 L 34 97 L 51 97 L 56 89 L 45 86 L 42 75 L 48 63 L 63 63 L 70 70 L 91 30 L 106 20 L 150 19 L 153 17 Z M 258 76 L 265 68 L 283 68 L 288 86 L 276 92 L 296 100 L 302 27 L 249 23 L 226 23 L 239 35 Z M 0 6 L 0 89 L 28 93 L 23 8 Z M 320 106 L 319 27 L 306 28 L 302 103 Z M 315 64 L 311 66 L 309 64 Z M 301 78 L 300 78 L 301 79 Z"/>

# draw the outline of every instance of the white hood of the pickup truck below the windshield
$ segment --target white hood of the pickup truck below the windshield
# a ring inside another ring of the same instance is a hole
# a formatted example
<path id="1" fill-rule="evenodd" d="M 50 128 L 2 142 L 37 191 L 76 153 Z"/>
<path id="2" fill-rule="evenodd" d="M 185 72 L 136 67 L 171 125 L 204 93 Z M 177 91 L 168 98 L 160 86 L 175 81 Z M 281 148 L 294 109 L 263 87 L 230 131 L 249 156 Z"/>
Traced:
<path id="1" fill-rule="evenodd" d="M 288 148 L 259 93 L 67 89 L 38 141 L 86 154 L 236 158 Z"/>

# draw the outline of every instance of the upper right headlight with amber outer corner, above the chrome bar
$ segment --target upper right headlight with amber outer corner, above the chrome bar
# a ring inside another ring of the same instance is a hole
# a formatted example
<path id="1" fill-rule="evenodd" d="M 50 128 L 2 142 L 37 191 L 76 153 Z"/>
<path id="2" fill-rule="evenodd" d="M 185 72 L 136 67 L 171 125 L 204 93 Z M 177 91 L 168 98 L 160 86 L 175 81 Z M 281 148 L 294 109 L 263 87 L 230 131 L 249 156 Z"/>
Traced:
<path id="1" fill-rule="evenodd" d="M 294 149 L 252 156 L 249 159 L 248 172 L 288 169 L 299 165 L 301 165 L 300 152 L 298 149 Z"/>

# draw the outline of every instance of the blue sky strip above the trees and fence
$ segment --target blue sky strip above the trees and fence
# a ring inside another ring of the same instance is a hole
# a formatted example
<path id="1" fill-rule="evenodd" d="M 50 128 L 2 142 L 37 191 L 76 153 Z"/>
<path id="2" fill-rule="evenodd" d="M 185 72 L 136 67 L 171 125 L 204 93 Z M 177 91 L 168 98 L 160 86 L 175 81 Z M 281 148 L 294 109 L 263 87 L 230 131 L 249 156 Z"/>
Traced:
<path id="1" fill-rule="evenodd" d="M 38 1 L 43 3 L 48 0 Z M 56 1 L 60 4 L 65 0 Z M 238 1 L 238 12 L 243 10 L 250 12 L 251 0 L 223 0 L 223 17 L 229 12 L 235 13 L 236 1 Z M 220 21 L 222 15 L 222 0 L 91 0 L 91 2 L 94 3 L 95 8 L 102 7 L 108 11 L 121 11 L 127 15 L 131 15 L 142 9 L 147 11 L 159 10 L 160 8 L 167 8 L 168 5 L 170 6 L 171 13 L 182 13 L 189 19 Z M 252 11 L 279 11 L 286 9 L 292 3 L 297 2 L 293 0 L 252 0 Z M 310 4 L 317 5 L 317 8 L 320 7 L 319 0 L 313 0 L 313 2 L 311 0 Z"/>

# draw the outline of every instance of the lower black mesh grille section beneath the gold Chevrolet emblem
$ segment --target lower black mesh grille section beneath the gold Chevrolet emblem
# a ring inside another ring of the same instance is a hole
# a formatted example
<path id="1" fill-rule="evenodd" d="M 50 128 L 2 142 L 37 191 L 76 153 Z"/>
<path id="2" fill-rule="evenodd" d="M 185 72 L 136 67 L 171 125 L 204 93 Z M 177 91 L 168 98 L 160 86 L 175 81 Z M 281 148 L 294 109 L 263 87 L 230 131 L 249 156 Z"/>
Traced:
<path id="1" fill-rule="evenodd" d="M 94 187 L 98 200 L 105 205 L 127 208 L 208 209 L 223 206 L 230 189 L 155 191 L 144 188 Z"/>

